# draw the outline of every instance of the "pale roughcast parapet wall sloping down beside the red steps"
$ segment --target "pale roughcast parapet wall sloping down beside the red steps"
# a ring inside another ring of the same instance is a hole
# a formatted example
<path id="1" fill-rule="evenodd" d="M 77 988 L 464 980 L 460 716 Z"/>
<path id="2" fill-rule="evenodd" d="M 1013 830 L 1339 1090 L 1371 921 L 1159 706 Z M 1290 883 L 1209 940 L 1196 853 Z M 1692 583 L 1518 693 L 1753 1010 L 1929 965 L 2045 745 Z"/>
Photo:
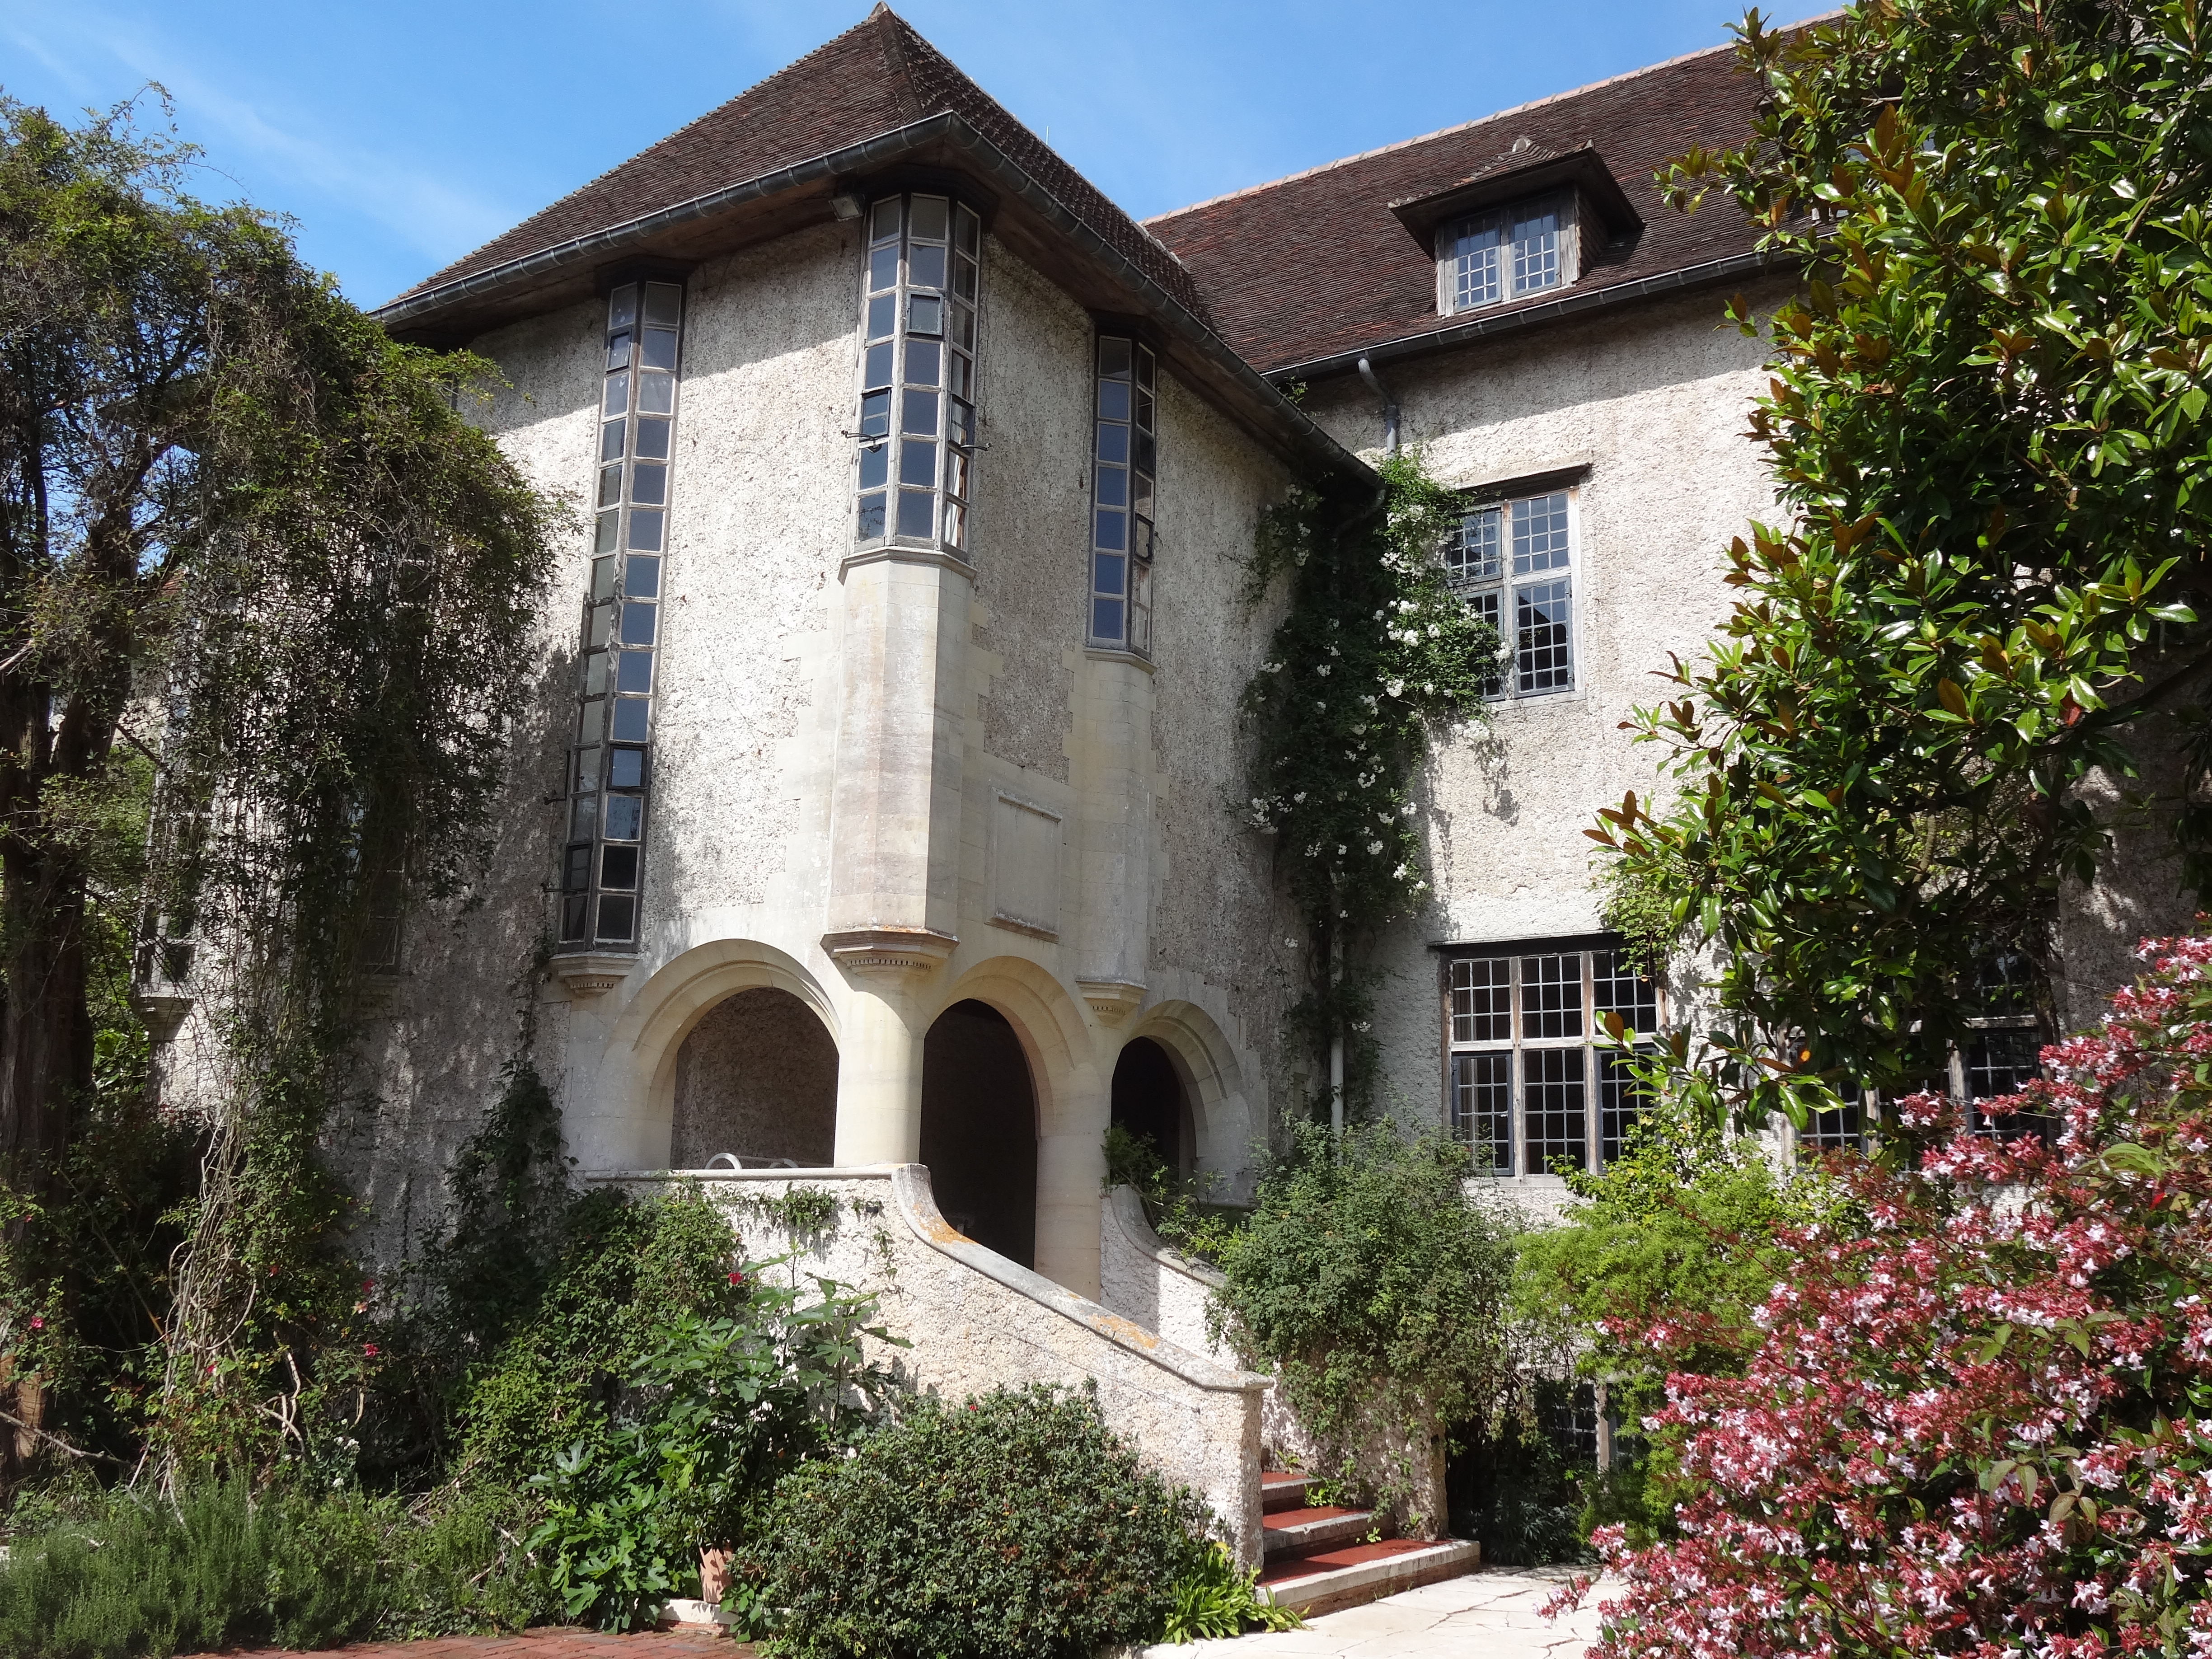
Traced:
<path id="1" fill-rule="evenodd" d="M 606 1177 L 633 1192 L 666 1190 L 670 1177 Z M 1097 1387 L 1106 1425 L 1139 1455 L 1197 1491 L 1223 1524 L 1237 1557 L 1261 1559 L 1259 1398 L 1265 1378 L 1223 1367 L 1106 1307 L 962 1239 L 938 1214 L 929 1172 L 805 1170 L 701 1175 L 730 1217 L 748 1259 L 796 1256 L 776 1267 L 803 1281 L 818 1272 L 878 1298 L 878 1316 L 911 1347 L 872 1345 L 905 1383 L 945 1400 L 995 1387 L 1055 1383 Z M 792 1239 L 759 1199 L 796 1186 L 827 1192 L 836 1219 Z"/>

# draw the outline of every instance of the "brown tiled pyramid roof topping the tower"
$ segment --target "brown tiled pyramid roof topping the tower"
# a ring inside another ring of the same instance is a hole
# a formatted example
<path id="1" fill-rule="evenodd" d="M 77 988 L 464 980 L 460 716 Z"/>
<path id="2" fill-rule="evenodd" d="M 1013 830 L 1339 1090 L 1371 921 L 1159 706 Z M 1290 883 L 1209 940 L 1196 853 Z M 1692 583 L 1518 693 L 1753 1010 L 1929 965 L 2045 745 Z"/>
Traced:
<path id="1" fill-rule="evenodd" d="M 830 44 L 602 173 L 407 294 L 422 294 L 940 113 L 962 117 L 1192 316 L 1210 321 L 1190 274 L 1172 254 L 883 4 Z"/>

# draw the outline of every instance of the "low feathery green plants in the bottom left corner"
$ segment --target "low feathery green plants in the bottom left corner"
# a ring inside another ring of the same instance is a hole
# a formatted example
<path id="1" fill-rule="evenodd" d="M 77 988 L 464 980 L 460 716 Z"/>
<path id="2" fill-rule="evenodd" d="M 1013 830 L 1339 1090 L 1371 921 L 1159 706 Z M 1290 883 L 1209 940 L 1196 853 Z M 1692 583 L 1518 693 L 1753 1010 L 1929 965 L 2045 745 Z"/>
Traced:
<path id="1" fill-rule="evenodd" d="M 511 1493 L 434 1515 L 358 1491 L 215 1484 L 177 1504 L 111 1493 L 18 1535 L 0 1568 L 0 1652 L 124 1659 L 518 1628 L 551 1610 Z"/>

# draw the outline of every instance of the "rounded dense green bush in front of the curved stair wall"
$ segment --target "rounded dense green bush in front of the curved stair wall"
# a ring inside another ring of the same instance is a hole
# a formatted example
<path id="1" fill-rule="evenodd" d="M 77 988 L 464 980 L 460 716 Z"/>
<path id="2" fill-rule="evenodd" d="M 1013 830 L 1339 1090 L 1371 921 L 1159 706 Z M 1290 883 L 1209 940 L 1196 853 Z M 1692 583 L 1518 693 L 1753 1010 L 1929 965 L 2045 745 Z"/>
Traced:
<path id="1" fill-rule="evenodd" d="M 1000 1389 L 787 1475 L 739 1573 L 790 1659 L 1093 1659 L 1159 1639 L 1208 1526 L 1095 1400 Z"/>

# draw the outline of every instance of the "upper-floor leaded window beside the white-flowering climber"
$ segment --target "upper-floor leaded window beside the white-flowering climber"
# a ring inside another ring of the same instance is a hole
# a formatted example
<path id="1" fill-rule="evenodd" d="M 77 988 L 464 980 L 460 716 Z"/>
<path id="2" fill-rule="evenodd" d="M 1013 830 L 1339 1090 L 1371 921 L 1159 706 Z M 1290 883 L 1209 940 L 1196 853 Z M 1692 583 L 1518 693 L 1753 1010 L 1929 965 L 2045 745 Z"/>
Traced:
<path id="1" fill-rule="evenodd" d="M 1575 688 L 1575 531 L 1564 489 L 1482 502 L 1444 538 L 1444 575 L 1498 630 L 1489 697 Z"/>

